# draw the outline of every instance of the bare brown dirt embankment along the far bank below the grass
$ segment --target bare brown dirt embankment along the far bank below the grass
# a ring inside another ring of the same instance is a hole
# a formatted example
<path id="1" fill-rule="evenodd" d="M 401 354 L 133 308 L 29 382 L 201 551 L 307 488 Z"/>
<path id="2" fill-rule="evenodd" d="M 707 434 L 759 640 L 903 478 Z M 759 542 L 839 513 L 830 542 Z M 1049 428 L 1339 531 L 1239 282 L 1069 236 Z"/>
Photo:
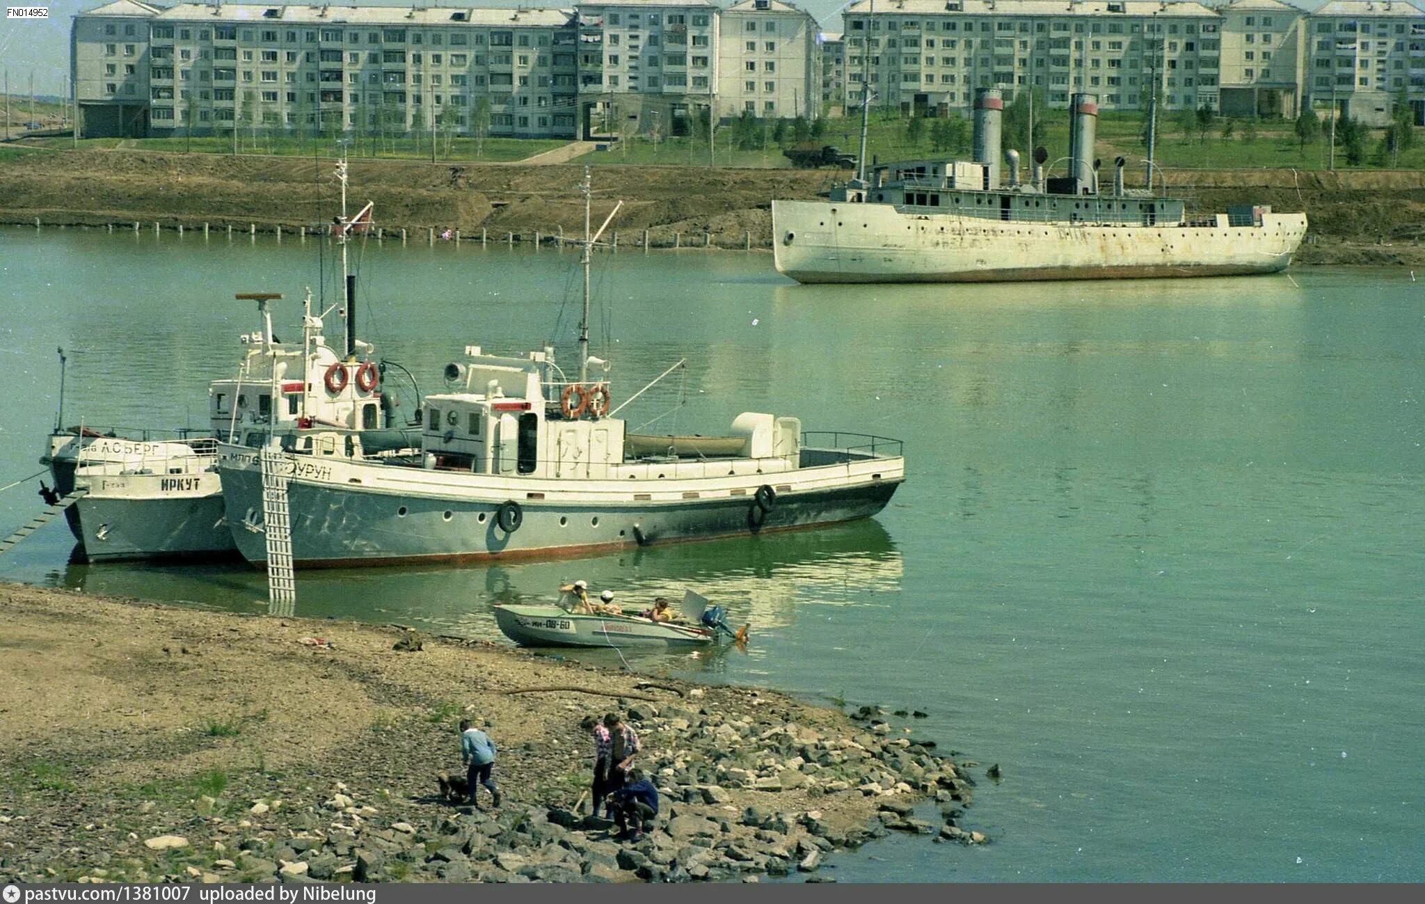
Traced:
<path id="1" fill-rule="evenodd" d="M 353 207 L 376 202 L 378 224 L 484 230 L 524 241 L 583 232 L 581 167 L 365 161 L 351 167 Z M 624 202 L 611 227 L 621 242 L 671 247 L 771 245 L 771 198 L 814 198 L 844 174 L 829 170 L 597 167 L 594 220 Z M 1183 173 L 1173 191 L 1200 211 L 1271 204 L 1305 211 L 1311 231 L 1297 260 L 1308 264 L 1425 264 L 1425 174 L 1235 170 Z M 331 161 L 108 151 L 51 151 L 0 164 L 0 220 L 54 224 L 141 221 L 268 231 L 329 222 L 338 208 Z M 677 237 L 677 238 L 675 238 Z"/>

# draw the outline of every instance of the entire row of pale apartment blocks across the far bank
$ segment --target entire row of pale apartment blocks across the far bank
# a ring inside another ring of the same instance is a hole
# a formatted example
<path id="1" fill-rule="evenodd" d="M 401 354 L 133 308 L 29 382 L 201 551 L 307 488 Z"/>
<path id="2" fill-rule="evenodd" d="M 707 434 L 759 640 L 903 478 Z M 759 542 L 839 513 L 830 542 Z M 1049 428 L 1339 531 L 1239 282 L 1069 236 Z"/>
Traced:
<path id="1" fill-rule="evenodd" d="M 978 87 L 1104 110 L 1425 124 L 1425 11 L 1404 0 L 858 0 L 844 34 L 782 0 L 400 9 L 114 0 L 74 17 L 87 137 L 235 127 L 576 138 L 687 134 L 715 114 L 965 110 Z"/>

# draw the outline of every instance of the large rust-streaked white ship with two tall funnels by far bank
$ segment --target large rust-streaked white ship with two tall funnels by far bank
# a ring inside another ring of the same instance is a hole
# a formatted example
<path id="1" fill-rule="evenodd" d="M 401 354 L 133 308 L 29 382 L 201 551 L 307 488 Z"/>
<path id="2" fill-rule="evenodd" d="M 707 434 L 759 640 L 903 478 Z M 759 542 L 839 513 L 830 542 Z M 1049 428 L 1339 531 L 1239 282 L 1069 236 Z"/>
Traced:
<path id="1" fill-rule="evenodd" d="M 1093 145 L 1097 96 L 1074 94 L 1069 175 L 1029 181 L 1019 154 L 1000 170 L 998 88 L 975 97 L 975 161 L 913 160 L 875 167 L 826 201 L 772 201 L 777 269 L 798 282 L 993 282 L 1210 277 L 1284 269 L 1305 214 L 1234 205 L 1188 217 L 1177 198 L 1123 187 L 1100 191 Z"/>

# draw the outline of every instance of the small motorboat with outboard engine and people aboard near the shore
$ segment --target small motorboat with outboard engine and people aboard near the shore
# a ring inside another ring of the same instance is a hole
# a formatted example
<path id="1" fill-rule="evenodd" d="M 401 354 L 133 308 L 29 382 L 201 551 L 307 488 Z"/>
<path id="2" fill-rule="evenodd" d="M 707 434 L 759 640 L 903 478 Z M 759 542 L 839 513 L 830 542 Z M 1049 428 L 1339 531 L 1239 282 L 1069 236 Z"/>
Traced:
<path id="1" fill-rule="evenodd" d="M 497 603 L 494 623 L 522 646 L 668 647 L 711 646 L 721 639 L 747 640 L 747 629 L 734 633 L 721 606 L 688 590 L 681 622 L 654 622 L 636 615 L 584 615 L 564 597 L 559 605 Z"/>

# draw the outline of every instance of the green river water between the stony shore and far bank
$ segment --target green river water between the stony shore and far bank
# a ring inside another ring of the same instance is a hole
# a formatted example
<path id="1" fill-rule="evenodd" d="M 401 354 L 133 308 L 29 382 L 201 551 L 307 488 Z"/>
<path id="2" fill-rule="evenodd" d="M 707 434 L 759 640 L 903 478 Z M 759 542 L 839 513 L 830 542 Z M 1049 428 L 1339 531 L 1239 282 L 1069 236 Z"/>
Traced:
<path id="1" fill-rule="evenodd" d="M 234 292 L 285 292 L 278 332 L 295 331 L 304 285 L 331 302 L 321 254 L 0 230 L 0 485 L 38 469 L 57 346 L 67 423 L 201 426 L 207 382 L 255 329 Z M 467 344 L 553 338 L 573 359 L 574 264 L 373 245 L 361 335 L 425 392 Z M 594 289 L 616 396 L 687 358 L 631 426 L 792 414 L 903 439 L 906 485 L 875 520 L 819 532 L 302 573 L 299 615 L 499 639 L 492 602 L 561 580 L 701 590 L 752 623 L 748 652 L 640 669 L 923 710 L 892 721 L 980 763 L 962 824 L 993 844 L 882 841 L 835 858 L 844 881 L 1425 878 L 1425 282 L 799 287 L 765 254 L 621 251 Z M 0 530 L 38 510 L 34 486 L 0 493 Z M 83 566 L 71 548 L 46 528 L 0 579 L 264 609 L 244 566 Z"/>

